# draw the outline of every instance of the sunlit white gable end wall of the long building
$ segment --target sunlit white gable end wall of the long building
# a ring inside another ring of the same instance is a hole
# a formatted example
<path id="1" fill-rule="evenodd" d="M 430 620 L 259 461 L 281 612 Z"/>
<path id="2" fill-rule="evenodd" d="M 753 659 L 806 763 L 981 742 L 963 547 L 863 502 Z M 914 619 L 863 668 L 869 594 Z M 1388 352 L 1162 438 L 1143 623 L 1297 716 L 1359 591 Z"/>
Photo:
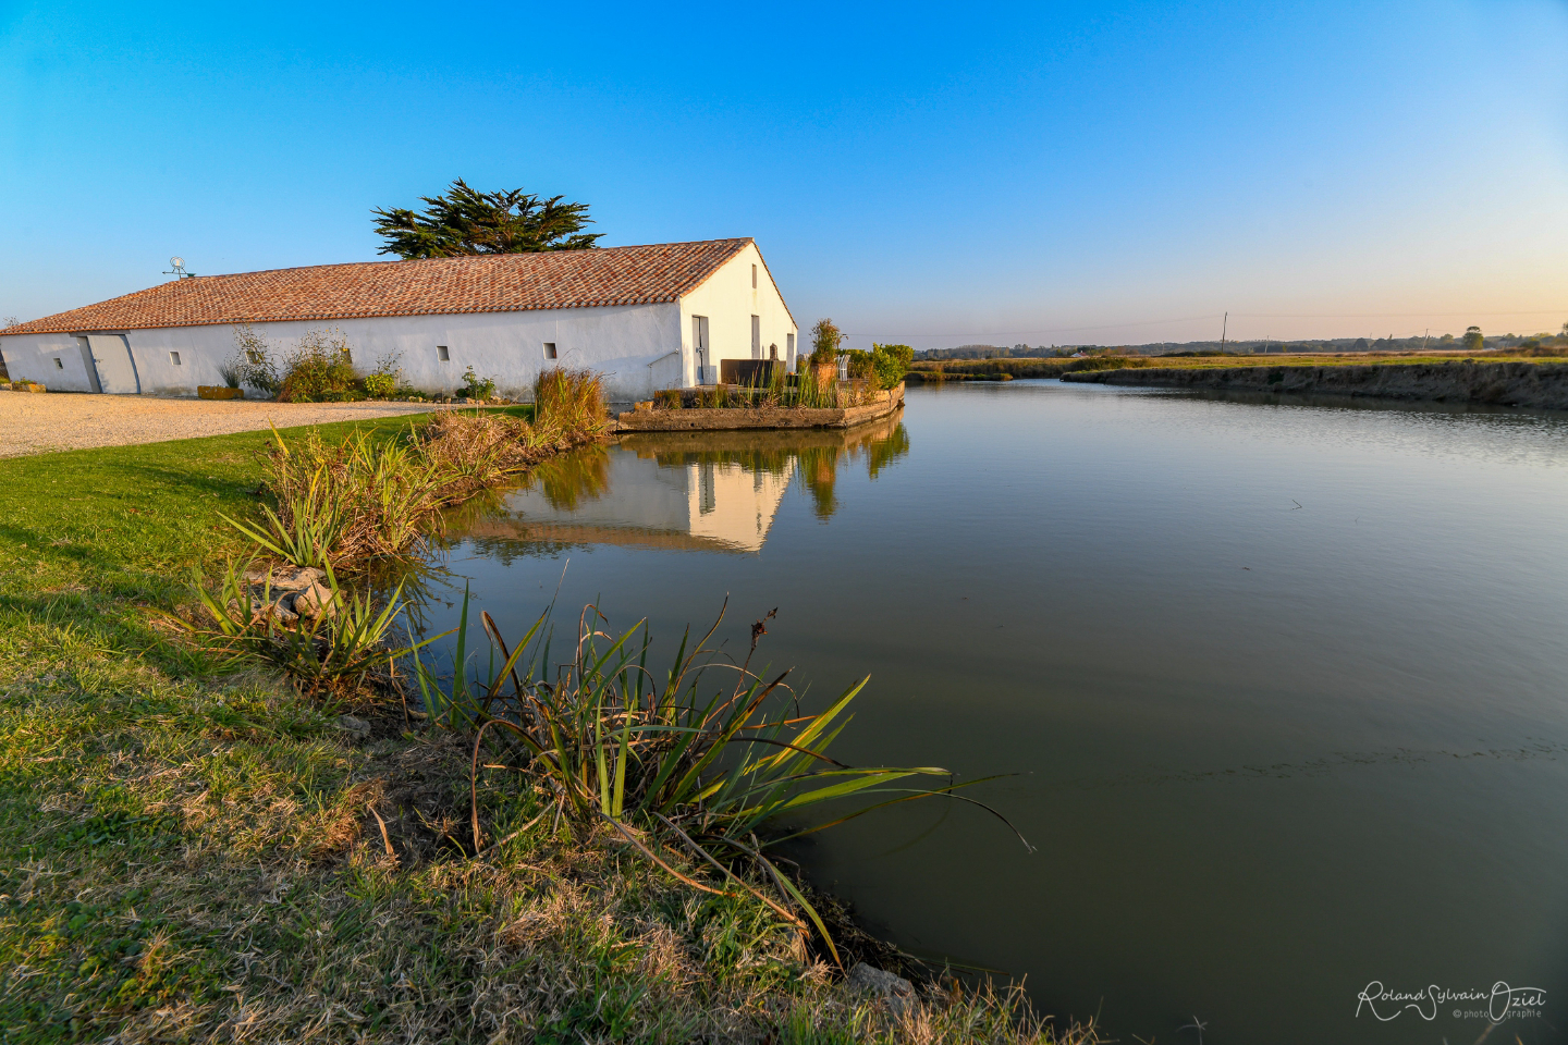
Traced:
<path id="1" fill-rule="evenodd" d="M 757 285 L 751 287 L 751 266 L 757 266 Z M 695 371 L 695 345 L 691 343 L 691 316 L 707 316 L 709 367 L 718 367 L 721 359 L 753 359 L 751 356 L 751 316 L 762 320 L 762 356 L 768 357 L 768 345 L 779 346 L 779 359 L 786 360 L 790 370 L 795 359 L 789 354 L 789 335 L 797 335 L 797 353 L 800 351 L 800 331 L 790 320 L 784 298 L 779 295 L 768 266 L 762 263 L 762 252 L 757 244 L 746 244 L 735 257 L 729 259 L 707 280 L 681 299 L 681 384 L 691 387 L 698 382 Z M 670 382 L 666 387 L 674 387 Z"/>

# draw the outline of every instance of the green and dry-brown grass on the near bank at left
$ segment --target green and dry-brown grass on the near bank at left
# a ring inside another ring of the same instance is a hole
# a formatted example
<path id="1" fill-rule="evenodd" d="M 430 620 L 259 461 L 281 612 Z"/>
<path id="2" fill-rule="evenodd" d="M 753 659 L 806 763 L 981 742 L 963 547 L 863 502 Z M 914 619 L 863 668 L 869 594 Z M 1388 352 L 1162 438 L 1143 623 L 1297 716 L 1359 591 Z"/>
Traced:
<path id="1" fill-rule="evenodd" d="M 267 439 L 0 461 L 0 1042 L 1085 1040 L 1016 995 L 895 1020 L 756 898 L 510 837 L 527 791 L 469 859 L 456 736 L 216 674 L 155 611 L 238 550 Z"/>

